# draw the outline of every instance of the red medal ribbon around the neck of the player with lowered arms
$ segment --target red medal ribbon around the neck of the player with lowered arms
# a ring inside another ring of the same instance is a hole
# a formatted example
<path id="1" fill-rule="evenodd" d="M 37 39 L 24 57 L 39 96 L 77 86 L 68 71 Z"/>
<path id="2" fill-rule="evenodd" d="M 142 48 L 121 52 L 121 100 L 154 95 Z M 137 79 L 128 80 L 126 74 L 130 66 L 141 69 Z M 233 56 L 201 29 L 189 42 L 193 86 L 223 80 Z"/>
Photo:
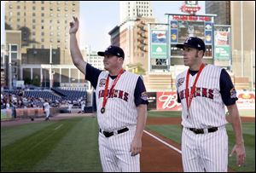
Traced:
<path id="1" fill-rule="evenodd" d="M 200 66 L 200 69 L 199 71 L 197 72 L 197 76 L 195 78 L 195 82 L 192 86 L 192 89 L 191 89 L 191 92 L 190 92 L 190 95 L 189 95 L 189 70 L 187 72 L 187 78 L 186 78 L 186 101 L 187 101 L 187 108 L 188 108 L 188 111 L 189 111 L 189 107 L 191 105 L 191 102 L 192 102 L 192 99 L 193 99 L 193 95 L 195 93 L 195 84 L 197 83 L 197 80 L 200 76 L 200 73 L 202 71 L 202 69 L 205 67 L 205 64 L 202 63 L 201 66 Z"/>

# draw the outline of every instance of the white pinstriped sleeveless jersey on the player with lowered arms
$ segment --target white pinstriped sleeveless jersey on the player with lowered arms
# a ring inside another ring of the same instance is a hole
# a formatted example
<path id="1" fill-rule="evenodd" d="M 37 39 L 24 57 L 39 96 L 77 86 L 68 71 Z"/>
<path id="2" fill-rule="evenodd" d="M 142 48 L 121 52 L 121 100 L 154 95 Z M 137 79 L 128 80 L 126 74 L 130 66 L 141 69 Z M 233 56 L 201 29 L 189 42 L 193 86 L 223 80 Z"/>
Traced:
<path id="1" fill-rule="evenodd" d="M 204 67 L 196 83 L 195 96 L 189 107 L 189 114 L 185 95 L 187 71 L 177 75 L 176 87 L 183 107 L 183 127 L 204 129 L 223 126 L 227 123 L 219 86 L 221 71 L 222 68 L 217 66 L 207 65 Z M 189 94 L 196 76 L 197 74 L 194 76 L 189 74 Z"/>

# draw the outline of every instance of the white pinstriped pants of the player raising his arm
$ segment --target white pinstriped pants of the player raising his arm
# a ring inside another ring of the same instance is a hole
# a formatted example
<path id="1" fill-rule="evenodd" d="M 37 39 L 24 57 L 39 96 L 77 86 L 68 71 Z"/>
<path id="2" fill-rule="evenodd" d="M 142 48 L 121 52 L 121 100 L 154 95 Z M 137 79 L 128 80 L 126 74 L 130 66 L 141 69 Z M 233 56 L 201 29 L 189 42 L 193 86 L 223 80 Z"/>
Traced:
<path id="1" fill-rule="evenodd" d="M 99 133 L 99 151 L 104 172 L 139 172 L 140 154 L 131 156 L 131 141 L 136 127 L 129 131 L 105 137 Z"/>

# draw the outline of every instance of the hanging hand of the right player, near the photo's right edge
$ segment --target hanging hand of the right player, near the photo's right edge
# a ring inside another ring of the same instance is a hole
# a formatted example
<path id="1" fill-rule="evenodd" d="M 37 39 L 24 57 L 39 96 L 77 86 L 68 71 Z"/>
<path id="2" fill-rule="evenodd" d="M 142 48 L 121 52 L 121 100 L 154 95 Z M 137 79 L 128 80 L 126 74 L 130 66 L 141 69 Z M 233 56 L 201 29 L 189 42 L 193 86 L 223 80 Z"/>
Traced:
<path id="1" fill-rule="evenodd" d="M 241 144 L 236 144 L 231 153 L 230 153 L 230 157 L 236 153 L 236 164 L 238 166 L 241 166 L 241 164 L 244 163 L 245 159 L 246 159 L 246 152 L 245 152 L 245 147 L 244 147 L 244 144 L 241 143 Z"/>

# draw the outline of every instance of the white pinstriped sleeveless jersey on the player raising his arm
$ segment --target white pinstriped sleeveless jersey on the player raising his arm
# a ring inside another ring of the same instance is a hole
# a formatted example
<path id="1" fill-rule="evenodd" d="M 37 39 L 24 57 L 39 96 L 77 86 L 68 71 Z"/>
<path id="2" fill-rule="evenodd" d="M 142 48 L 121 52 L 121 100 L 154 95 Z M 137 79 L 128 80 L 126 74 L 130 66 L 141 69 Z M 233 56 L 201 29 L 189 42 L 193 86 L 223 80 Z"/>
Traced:
<path id="1" fill-rule="evenodd" d="M 106 104 L 106 111 L 101 112 L 103 95 L 108 72 L 101 72 L 96 87 L 96 105 L 98 124 L 102 130 L 113 131 L 137 124 L 137 107 L 134 102 L 134 90 L 139 76 L 125 71 L 113 88 Z M 109 78 L 108 91 L 114 79 Z"/>

